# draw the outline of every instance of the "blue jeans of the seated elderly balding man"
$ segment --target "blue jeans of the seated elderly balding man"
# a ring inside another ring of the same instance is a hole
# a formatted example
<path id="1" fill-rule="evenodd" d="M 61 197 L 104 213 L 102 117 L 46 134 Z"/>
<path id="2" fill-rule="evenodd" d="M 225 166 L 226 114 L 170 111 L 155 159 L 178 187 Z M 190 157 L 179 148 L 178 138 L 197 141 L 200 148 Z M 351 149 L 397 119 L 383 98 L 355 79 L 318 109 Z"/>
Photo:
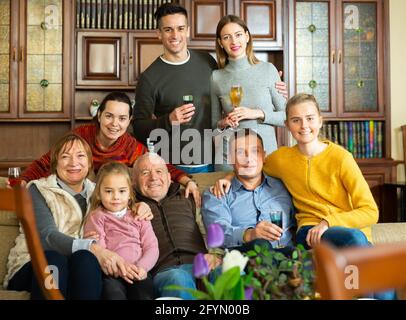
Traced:
<path id="1" fill-rule="evenodd" d="M 193 277 L 193 265 L 181 264 L 158 272 L 154 277 L 154 294 L 156 298 L 178 297 L 184 300 L 194 300 L 193 296 L 186 291 L 166 289 L 165 287 L 169 285 L 196 289 L 196 280 Z"/>

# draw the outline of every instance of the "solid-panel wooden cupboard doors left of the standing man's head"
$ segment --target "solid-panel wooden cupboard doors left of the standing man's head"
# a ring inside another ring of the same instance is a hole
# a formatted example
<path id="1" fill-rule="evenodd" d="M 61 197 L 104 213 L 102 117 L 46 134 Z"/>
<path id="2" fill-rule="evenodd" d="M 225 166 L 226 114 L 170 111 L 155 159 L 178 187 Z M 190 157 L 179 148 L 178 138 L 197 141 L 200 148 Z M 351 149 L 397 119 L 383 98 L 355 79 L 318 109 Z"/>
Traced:
<path id="1" fill-rule="evenodd" d="M 162 52 L 151 31 L 79 31 L 77 89 L 133 89 L 142 71 Z"/>

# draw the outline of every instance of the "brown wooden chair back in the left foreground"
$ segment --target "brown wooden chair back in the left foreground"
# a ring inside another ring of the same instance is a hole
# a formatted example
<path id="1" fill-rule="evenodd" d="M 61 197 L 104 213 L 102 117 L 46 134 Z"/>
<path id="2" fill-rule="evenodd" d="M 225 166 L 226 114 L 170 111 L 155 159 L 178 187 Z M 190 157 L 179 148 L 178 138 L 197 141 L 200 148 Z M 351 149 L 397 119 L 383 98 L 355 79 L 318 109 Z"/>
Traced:
<path id="1" fill-rule="evenodd" d="M 50 276 L 49 273 L 45 272 L 48 263 L 36 228 L 31 196 L 27 189 L 20 186 L 13 189 L 0 189 L 0 210 L 16 213 L 23 227 L 33 270 L 44 297 L 48 300 L 63 300 L 64 298 L 58 289 L 45 287 L 45 279 Z"/>

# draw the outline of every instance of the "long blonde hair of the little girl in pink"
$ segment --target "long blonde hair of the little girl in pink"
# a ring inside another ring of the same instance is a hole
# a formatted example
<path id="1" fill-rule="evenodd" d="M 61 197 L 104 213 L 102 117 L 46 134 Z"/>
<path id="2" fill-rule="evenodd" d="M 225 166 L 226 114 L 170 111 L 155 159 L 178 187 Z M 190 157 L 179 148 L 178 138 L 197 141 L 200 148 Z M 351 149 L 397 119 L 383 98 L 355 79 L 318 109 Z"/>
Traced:
<path id="1" fill-rule="evenodd" d="M 103 164 L 99 172 L 97 173 L 96 177 L 96 186 L 94 188 L 93 194 L 90 198 L 90 208 L 89 212 L 94 211 L 100 206 L 103 206 L 101 199 L 100 199 L 100 186 L 107 176 L 114 174 L 114 175 L 123 175 L 127 180 L 128 187 L 130 189 L 130 201 L 128 202 L 128 206 L 131 207 L 133 203 L 135 203 L 135 194 L 131 184 L 131 177 L 128 167 L 120 162 L 107 162 Z"/>

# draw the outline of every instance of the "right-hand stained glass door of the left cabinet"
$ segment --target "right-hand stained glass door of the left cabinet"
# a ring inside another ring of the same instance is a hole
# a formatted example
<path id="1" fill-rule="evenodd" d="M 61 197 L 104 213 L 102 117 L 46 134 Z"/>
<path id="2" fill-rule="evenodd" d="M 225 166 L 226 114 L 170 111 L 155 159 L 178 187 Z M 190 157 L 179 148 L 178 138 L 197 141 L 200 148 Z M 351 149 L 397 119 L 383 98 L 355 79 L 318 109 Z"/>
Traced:
<path id="1" fill-rule="evenodd" d="M 28 118 L 68 118 L 71 56 L 70 1 L 20 1 L 19 114 Z M 21 22 L 20 22 L 21 26 Z M 68 28 L 69 29 L 69 28 Z M 73 60 L 71 56 L 71 60 Z"/>

